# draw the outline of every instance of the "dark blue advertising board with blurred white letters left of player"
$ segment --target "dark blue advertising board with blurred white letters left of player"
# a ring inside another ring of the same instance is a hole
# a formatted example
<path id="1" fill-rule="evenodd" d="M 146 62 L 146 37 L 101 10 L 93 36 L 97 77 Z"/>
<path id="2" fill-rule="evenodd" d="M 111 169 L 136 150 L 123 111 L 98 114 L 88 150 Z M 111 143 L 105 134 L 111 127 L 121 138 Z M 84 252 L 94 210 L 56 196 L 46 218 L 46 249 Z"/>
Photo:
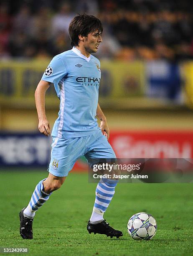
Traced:
<path id="1" fill-rule="evenodd" d="M 0 133 L 0 167 L 47 167 L 51 143 L 52 137 L 41 133 Z"/>

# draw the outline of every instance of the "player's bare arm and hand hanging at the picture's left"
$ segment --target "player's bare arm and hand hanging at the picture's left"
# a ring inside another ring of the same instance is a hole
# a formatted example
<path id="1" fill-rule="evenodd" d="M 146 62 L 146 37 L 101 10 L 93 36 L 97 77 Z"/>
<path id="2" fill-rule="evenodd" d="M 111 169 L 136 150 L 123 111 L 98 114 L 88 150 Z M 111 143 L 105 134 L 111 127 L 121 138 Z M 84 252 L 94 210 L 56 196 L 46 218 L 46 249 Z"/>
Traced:
<path id="1" fill-rule="evenodd" d="M 50 135 L 50 124 L 46 118 L 45 95 L 46 91 L 50 87 L 50 84 L 51 82 L 40 80 L 35 92 L 36 109 L 39 120 L 38 129 L 46 136 Z"/>

